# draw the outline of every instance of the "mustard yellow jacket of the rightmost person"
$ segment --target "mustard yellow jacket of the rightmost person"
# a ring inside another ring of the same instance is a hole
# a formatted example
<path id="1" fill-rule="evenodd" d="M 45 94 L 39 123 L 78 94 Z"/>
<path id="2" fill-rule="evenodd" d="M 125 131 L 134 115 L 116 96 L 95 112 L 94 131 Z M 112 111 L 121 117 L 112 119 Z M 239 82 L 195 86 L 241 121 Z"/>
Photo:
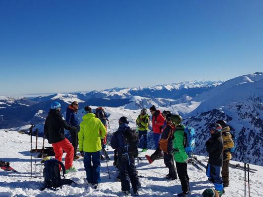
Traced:
<path id="1" fill-rule="evenodd" d="M 224 160 L 232 159 L 232 155 L 230 153 L 229 148 L 233 148 L 235 145 L 232 140 L 232 135 L 229 131 L 230 131 L 230 128 L 228 126 L 222 129 L 222 137 L 223 137 L 223 142 L 224 142 L 224 157 L 223 157 Z"/>

